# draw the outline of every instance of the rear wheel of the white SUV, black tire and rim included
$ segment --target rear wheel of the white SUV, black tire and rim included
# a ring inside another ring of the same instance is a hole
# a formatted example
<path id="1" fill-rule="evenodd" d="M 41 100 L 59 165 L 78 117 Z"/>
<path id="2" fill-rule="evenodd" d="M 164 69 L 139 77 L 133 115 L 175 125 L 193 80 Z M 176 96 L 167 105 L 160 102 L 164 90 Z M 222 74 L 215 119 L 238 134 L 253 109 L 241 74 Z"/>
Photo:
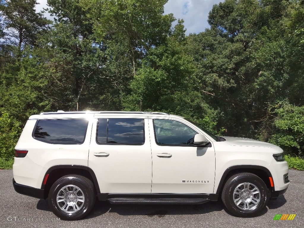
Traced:
<path id="1" fill-rule="evenodd" d="M 57 202 L 57 199 L 60 202 Z M 92 210 L 95 200 L 96 193 L 92 181 L 79 175 L 66 175 L 58 179 L 51 187 L 48 197 L 50 208 L 63 220 L 85 217 Z"/>

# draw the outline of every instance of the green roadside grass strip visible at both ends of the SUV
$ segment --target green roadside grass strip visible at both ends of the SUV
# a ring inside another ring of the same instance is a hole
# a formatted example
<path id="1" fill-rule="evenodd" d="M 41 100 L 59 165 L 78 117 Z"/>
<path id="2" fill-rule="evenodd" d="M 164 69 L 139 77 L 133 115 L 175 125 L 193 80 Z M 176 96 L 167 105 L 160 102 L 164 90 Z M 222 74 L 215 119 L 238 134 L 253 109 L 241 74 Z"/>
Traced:
<path id="1" fill-rule="evenodd" d="M 290 157 L 285 155 L 285 161 L 288 162 L 288 168 L 304 170 L 304 159 L 300 157 Z M 9 160 L 0 158 L 0 169 L 12 169 L 14 163 L 14 158 Z"/>

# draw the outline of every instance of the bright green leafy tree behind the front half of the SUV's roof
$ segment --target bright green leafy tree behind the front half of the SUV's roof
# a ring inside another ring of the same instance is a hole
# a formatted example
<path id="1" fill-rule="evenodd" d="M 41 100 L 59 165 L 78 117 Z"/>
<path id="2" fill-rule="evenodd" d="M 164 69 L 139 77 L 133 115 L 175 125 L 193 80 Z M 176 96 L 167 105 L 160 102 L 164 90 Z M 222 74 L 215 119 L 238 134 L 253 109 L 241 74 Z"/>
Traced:
<path id="1" fill-rule="evenodd" d="M 150 49 L 123 99 L 126 111 L 159 111 L 186 117 L 216 132 L 218 112 L 196 90 L 195 66 L 185 49 L 185 30 L 179 20 L 166 43 Z"/>

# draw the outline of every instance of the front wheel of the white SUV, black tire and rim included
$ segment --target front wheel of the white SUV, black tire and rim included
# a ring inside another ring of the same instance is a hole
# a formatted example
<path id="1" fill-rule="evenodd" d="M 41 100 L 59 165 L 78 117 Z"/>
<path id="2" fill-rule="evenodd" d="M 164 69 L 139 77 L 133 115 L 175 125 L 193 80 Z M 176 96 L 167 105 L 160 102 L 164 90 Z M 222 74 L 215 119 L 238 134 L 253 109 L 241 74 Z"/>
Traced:
<path id="1" fill-rule="evenodd" d="M 266 207 L 268 192 L 264 181 L 257 175 L 238 173 L 226 181 L 222 201 L 234 216 L 254 217 Z"/>

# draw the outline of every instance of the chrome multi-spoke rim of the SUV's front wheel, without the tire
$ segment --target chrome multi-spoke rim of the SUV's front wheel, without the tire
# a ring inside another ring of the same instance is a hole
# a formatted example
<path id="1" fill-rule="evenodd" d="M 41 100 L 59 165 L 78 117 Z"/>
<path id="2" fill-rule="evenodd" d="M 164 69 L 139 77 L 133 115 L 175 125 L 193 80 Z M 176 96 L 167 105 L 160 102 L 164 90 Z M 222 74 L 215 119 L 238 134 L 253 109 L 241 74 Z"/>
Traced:
<path id="1" fill-rule="evenodd" d="M 261 200 L 261 192 L 252 183 L 239 184 L 233 192 L 235 205 L 242 210 L 250 211 L 255 209 Z"/>

